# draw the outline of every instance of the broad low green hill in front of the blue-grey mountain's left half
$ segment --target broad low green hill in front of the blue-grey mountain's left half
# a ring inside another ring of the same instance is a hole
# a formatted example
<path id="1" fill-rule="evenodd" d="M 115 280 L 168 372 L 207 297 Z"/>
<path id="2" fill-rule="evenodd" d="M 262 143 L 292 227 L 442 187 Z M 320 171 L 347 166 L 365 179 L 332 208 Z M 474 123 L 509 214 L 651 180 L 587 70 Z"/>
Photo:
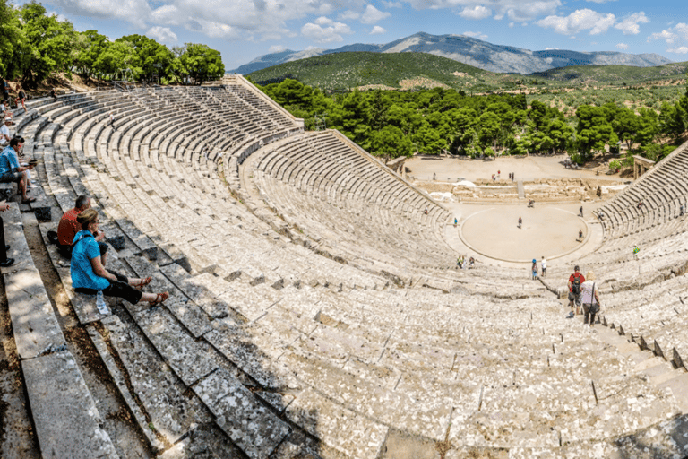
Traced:
<path id="1" fill-rule="evenodd" d="M 261 85 L 291 78 L 325 91 L 359 87 L 409 89 L 444 85 L 489 90 L 503 80 L 477 67 L 423 53 L 346 52 L 273 65 L 248 76 Z"/>

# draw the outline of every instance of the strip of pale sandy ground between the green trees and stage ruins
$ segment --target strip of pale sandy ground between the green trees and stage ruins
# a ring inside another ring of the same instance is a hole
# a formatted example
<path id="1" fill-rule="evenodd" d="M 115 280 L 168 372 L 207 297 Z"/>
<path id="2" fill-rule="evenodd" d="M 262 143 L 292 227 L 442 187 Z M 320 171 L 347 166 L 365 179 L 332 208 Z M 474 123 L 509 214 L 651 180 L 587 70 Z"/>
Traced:
<path id="1" fill-rule="evenodd" d="M 566 169 L 563 160 L 566 155 L 529 156 L 527 158 L 503 157 L 492 161 L 458 160 L 454 158 L 416 157 L 406 161 L 410 169 L 409 176 L 419 180 L 432 180 L 433 174 L 438 181 L 455 182 L 457 179 L 477 180 L 490 179 L 493 174 L 501 171 L 502 178 L 508 178 L 510 173 L 515 179 L 530 181 L 535 178 L 595 178 L 612 182 L 624 182 L 628 178 L 613 176 L 596 176 L 594 170 Z"/>

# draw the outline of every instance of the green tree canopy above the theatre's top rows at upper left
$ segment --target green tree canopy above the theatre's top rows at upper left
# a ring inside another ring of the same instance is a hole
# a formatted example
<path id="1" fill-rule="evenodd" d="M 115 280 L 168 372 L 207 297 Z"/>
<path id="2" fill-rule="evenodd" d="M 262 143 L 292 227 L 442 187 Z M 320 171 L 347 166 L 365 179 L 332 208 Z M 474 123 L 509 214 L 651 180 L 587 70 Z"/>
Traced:
<path id="1" fill-rule="evenodd" d="M 206 45 L 186 43 L 170 50 L 138 34 L 112 41 L 98 30 L 74 30 L 35 1 L 15 7 L 0 0 L 0 76 L 21 78 L 31 88 L 55 72 L 201 84 L 224 74 L 225 67 L 219 51 Z"/>

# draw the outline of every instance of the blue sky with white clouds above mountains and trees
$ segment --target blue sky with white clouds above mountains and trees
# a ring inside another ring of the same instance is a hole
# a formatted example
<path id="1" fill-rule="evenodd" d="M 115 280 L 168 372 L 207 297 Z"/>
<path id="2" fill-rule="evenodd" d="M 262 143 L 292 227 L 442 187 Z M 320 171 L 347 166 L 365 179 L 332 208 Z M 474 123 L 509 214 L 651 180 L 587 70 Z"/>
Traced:
<path id="1" fill-rule="evenodd" d="M 21 0 L 20 0 L 21 1 Z M 636 0 L 47 0 L 77 30 L 206 43 L 234 69 L 284 49 L 388 43 L 419 31 L 540 50 L 657 53 L 688 60 L 684 2 Z M 680 12 L 684 13 L 680 13 Z"/>

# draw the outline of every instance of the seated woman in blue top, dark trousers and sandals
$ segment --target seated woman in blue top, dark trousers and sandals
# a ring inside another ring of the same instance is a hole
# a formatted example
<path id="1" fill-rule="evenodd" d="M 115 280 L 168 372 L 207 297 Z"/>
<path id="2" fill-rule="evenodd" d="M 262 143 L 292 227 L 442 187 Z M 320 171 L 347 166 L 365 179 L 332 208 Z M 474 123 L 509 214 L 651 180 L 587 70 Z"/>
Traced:
<path id="1" fill-rule="evenodd" d="M 103 290 L 103 295 L 107 297 L 123 298 L 132 304 L 148 301 L 151 305 L 156 305 L 168 299 L 167 291 L 157 294 L 143 293 L 134 288 L 148 285 L 150 277 L 127 278 L 103 267 L 100 248 L 93 237 L 98 232 L 98 212 L 87 209 L 77 215 L 76 221 L 82 225 L 82 230 L 74 236 L 72 249 L 71 273 L 75 291 L 94 295 L 98 290 Z"/>

